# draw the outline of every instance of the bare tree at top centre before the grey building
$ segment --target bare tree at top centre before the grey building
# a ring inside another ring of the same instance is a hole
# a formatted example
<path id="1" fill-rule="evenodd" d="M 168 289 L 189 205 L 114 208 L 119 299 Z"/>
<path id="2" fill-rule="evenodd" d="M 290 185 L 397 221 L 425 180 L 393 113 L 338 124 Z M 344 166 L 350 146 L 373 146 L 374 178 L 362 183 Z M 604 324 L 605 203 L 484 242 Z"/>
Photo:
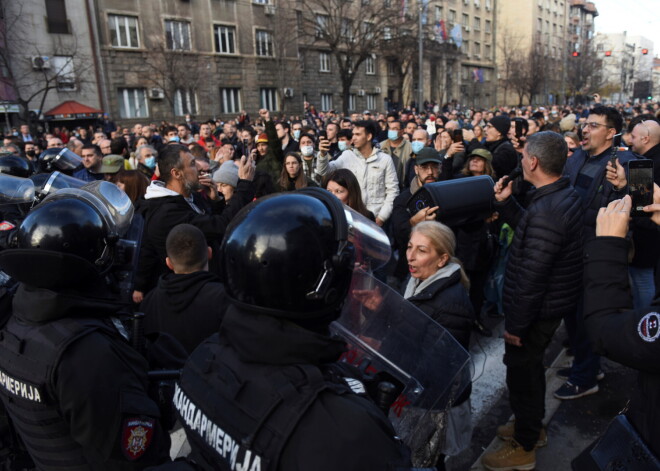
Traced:
<path id="1" fill-rule="evenodd" d="M 334 56 L 344 113 L 360 66 L 378 50 L 398 15 L 382 0 L 302 0 L 305 46 L 324 48 Z"/>

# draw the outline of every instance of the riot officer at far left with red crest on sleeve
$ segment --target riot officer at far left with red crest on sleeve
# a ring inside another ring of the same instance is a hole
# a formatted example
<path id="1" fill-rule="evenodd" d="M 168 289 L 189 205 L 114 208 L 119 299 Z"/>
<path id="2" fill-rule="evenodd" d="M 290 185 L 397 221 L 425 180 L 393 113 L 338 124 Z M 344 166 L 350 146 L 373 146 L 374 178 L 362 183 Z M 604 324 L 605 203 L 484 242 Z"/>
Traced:
<path id="1" fill-rule="evenodd" d="M 60 190 L 21 223 L 18 248 L 0 253 L 0 269 L 20 283 L 0 331 L 0 399 L 40 470 L 169 459 L 146 360 L 124 337 L 124 305 L 108 283 L 132 212 L 109 182 Z"/>

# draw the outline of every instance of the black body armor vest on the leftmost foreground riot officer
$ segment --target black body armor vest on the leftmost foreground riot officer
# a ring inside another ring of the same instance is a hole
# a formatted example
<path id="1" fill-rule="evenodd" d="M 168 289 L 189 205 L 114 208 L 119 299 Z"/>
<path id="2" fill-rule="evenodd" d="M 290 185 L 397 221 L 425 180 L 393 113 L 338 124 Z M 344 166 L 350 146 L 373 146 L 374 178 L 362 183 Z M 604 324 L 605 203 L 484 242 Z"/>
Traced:
<path id="1" fill-rule="evenodd" d="M 0 332 L 0 399 L 38 469 L 90 470 L 57 408 L 54 374 L 64 351 L 93 331 L 118 336 L 100 319 L 65 318 L 28 325 L 12 317 Z"/>

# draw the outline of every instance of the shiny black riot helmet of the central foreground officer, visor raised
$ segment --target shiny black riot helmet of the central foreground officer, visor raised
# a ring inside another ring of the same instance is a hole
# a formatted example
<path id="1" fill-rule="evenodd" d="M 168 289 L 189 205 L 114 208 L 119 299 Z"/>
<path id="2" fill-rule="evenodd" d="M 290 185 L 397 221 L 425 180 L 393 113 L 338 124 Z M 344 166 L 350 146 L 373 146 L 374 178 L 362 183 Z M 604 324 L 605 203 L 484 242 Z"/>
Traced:
<path id="1" fill-rule="evenodd" d="M 339 314 L 356 261 L 387 261 L 385 233 L 320 188 L 261 198 L 234 218 L 222 243 L 229 296 L 292 320 Z"/>

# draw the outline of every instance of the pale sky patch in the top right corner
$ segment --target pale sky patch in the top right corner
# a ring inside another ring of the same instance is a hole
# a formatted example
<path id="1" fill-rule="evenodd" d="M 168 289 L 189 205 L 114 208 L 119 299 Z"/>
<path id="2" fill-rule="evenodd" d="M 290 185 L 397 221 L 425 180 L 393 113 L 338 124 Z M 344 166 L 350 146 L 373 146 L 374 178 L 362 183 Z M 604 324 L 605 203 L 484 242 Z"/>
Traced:
<path id="1" fill-rule="evenodd" d="M 598 10 L 597 33 L 639 35 L 653 41 L 653 54 L 660 57 L 660 0 L 593 0 Z"/>

